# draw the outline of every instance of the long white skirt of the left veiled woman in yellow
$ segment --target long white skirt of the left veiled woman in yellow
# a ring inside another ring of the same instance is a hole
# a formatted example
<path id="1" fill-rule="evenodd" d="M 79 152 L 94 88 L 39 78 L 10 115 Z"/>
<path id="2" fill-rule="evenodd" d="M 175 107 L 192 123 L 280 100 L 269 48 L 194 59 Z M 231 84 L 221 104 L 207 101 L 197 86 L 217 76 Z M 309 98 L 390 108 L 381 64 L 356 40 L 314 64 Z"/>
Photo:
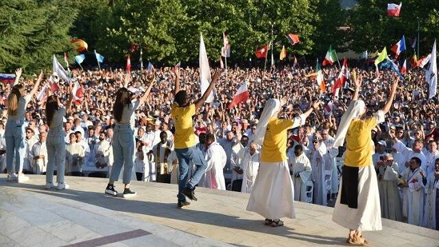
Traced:
<path id="1" fill-rule="evenodd" d="M 276 163 L 261 161 L 247 210 L 259 213 L 270 220 L 296 217 L 294 185 L 289 176 L 287 161 Z"/>

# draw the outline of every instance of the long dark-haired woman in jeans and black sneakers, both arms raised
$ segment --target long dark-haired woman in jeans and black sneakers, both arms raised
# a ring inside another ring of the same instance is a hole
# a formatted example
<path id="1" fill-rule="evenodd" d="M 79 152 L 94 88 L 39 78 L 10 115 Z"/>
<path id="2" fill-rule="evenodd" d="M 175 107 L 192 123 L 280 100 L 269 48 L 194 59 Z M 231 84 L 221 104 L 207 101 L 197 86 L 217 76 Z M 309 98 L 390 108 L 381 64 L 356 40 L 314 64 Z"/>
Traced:
<path id="1" fill-rule="evenodd" d="M 131 100 L 131 93 L 128 91 L 128 83 L 131 80 L 130 74 L 126 74 L 123 87 L 116 93 L 116 102 L 113 106 L 112 114 L 115 117 L 116 125 L 112 136 L 112 152 L 114 163 L 112 165 L 110 181 L 105 189 L 105 193 L 117 196 L 115 189 L 115 181 L 119 179 L 119 174 L 123 167 L 123 198 L 135 196 L 136 192 L 131 191 L 130 183 L 132 177 L 132 169 L 134 165 L 134 152 L 136 150 L 136 141 L 134 139 L 134 112 L 145 102 L 150 94 L 152 85 L 156 80 L 155 75 L 150 77 L 150 86 L 145 94 L 139 99 Z"/>

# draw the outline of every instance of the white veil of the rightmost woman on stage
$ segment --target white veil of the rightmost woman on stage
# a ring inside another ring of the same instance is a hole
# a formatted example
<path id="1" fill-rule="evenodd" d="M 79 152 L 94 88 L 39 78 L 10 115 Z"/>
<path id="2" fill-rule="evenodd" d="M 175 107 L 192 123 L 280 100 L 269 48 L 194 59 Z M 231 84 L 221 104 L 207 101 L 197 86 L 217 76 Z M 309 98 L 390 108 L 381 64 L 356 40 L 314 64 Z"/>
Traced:
<path id="1" fill-rule="evenodd" d="M 338 148 L 344 143 L 344 138 L 346 137 L 346 132 L 348 132 L 348 128 L 351 125 L 351 121 L 353 119 L 357 119 L 362 113 L 364 113 L 364 109 L 366 109 L 366 105 L 364 101 L 361 99 L 353 100 L 351 104 L 349 104 L 348 110 L 342 116 L 342 120 L 340 120 L 340 125 L 338 126 L 337 134 L 335 135 L 333 148 Z"/>

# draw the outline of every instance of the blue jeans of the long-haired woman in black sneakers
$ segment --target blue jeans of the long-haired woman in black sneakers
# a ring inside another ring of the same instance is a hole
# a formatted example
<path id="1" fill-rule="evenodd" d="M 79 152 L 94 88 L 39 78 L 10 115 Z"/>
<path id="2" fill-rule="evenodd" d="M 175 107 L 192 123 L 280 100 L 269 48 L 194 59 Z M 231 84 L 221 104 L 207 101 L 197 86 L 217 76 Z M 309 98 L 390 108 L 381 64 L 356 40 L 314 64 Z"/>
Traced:
<path id="1" fill-rule="evenodd" d="M 132 127 L 129 124 L 116 124 L 112 136 L 112 152 L 115 162 L 112 164 L 110 180 L 119 180 L 123 167 L 123 183 L 127 185 L 131 182 L 134 150 L 136 150 L 136 141 Z"/>

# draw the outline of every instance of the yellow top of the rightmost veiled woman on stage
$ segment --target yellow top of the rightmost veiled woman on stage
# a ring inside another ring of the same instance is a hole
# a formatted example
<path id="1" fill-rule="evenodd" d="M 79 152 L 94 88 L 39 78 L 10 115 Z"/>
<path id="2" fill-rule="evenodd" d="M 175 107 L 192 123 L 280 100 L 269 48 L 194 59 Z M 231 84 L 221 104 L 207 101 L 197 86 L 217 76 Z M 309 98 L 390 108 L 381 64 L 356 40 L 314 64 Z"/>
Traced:
<path id="1" fill-rule="evenodd" d="M 377 116 L 366 120 L 354 119 L 346 132 L 346 158 L 348 167 L 366 167 L 372 164 L 373 142 L 370 131 L 379 124 Z"/>

